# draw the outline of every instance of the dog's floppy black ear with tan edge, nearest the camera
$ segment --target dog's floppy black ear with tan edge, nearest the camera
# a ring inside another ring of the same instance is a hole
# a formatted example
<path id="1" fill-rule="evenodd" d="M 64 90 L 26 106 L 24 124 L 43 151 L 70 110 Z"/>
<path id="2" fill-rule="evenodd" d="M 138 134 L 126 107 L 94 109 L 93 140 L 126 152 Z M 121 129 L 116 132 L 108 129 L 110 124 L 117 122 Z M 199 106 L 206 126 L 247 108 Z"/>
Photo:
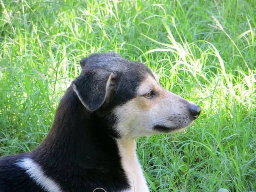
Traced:
<path id="1" fill-rule="evenodd" d="M 105 102 L 113 73 L 93 69 L 85 71 L 72 82 L 73 90 L 89 111 L 99 109 Z"/>

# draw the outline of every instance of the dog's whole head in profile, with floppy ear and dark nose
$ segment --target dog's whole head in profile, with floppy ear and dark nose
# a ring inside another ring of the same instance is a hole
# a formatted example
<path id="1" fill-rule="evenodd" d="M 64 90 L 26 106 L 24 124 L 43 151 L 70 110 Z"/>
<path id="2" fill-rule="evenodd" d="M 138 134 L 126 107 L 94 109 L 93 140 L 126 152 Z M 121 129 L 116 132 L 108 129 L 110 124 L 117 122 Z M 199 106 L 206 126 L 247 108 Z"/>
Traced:
<path id="1" fill-rule="evenodd" d="M 198 105 L 165 90 L 145 64 L 117 53 L 92 54 L 80 64 L 73 90 L 90 113 L 114 122 L 119 137 L 178 132 L 200 115 Z"/>

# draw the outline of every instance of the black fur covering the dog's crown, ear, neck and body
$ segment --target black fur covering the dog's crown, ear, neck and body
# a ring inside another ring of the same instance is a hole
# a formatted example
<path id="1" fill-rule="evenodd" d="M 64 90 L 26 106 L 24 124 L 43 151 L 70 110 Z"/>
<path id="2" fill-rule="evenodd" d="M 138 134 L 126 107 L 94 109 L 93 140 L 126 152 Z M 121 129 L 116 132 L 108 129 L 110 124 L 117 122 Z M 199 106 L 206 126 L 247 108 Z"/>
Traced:
<path id="1" fill-rule="evenodd" d="M 69 87 L 41 145 L 29 153 L 0 159 L 0 192 L 44 192 L 15 165 L 24 157 L 38 163 L 63 192 L 93 192 L 98 187 L 120 192 L 130 187 L 121 167 L 115 141 L 120 135 L 113 129 L 116 117 L 111 111 L 135 97 L 136 87 L 147 74 L 153 74 L 144 64 L 125 60 L 116 53 L 93 54 L 80 64 L 83 71 L 73 83 L 82 102 L 93 110 L 85 108 Z M 111 73 L 114 75 L 102 100 Z M 102 93 L 97 95 L 94 90 Z"/>

